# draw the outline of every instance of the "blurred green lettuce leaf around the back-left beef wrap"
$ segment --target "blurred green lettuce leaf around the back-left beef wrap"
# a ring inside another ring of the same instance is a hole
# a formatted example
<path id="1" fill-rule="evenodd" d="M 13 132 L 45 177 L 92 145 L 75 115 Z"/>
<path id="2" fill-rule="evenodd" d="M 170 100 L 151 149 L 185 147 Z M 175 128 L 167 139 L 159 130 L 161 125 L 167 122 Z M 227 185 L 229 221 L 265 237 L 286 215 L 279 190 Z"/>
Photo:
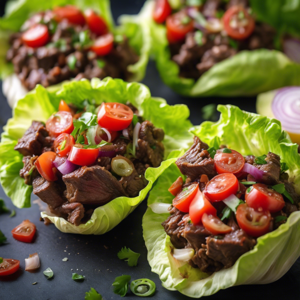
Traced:
<path id="1" fill-rule="evenodd" d="M 6 61 L 9 35 L 19 31 L 24 21 L 33 13 L 66 4 L 75 5 L 82 10 L 92 8 L 106 20 L 109 30 L 114 35 L 126 35 L 129 45 L 139 55 L 139 60 L 136 63 L 128 65 L 128 71 L 132 73 L 130 81 L 140 81 L 144 77 L 150 50 L 149 29 L 140 24 L 138 18 L 131 20 L 126 25 L 115 26 L 109 0 L 11 0 L 6 4 L 4 16 L 0 18 L 0 78 L 3 80 L 3 93 L 10 106 L 23 97 L 28 90 L 22 86 L 16 74 L 13 73 L 12 63 Z M 60 85 L 50 86 L 50 88 L 56 90 Z"/>

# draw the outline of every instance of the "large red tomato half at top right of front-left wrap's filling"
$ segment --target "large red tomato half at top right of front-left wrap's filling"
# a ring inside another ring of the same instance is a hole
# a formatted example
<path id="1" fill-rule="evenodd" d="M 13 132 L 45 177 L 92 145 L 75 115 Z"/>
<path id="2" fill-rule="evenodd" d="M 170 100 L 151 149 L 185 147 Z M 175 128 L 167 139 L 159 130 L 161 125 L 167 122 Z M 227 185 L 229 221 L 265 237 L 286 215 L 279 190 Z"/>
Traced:
<path id="1" fill-rule="evenodd" d="M 119 131 L 127 128 L 133 118 L 133 111 L 125 104 L 102 103 L 98 111 L 98 124 L 108 130 Z"/>

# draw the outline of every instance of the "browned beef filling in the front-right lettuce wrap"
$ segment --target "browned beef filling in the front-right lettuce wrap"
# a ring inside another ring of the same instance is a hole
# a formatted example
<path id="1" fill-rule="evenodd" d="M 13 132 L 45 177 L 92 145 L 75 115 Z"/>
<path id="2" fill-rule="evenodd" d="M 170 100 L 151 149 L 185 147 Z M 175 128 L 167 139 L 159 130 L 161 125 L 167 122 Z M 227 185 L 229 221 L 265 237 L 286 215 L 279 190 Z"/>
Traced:
<path id="1" fill-rule="evenodd" d="M 225 146 L 222 146 L 221 148 L 225 148 Z M 199 182 L 199 189 L 202 192 L 204 191 L 203 194 L 206 195 L 205 189 L 210 181 L 203 182 L 201 176 L 205 174 L 211 180 L 217 175 L 214 170 L 215 158 L 213 159 L 210 157 L 207 149 L 209 149 L 208 145 L 195 136 L 194 143 L 190 149 L 177 159 L 176 164 L 179 170 L 182 174 L 186 175 L 185 184 L 182 185 L 179 193 L 183 192 L 183 189 L 190 184 Z M 230 150 L 228 151 L 228 149 L 225 148 L 224 154 L 226 151 L 228 153 Z M 244 162 L 262 170 L 263 175 L 257 180 L 247 173 L 241 174 L 238 177 L 239 187 L 236 196 L 243 202 L 245 200 L 246 190 L 250 188 L 250 191 L 247 190 L 247 192 L 250 193 L 253 188 L 252 185 L 255 182 L 263 183 L 266 187 L 283 183 L 286 192 L 292 200 L 290 201 L 283 195 L 284 206 L 282 209 L 270 213 L 271 218 L 268 230 L 274 230 L 280 224 L 284 223 L 286 217 L 293 211 L 299 210 L 300 195 L 295 192 L 293 183 L 287 181 L 288 174 L 286 172 L 281 172 L 280 157 L 271 152 L 263 157 L 264 162 L 262 161 L 261 164 L 259 164 L 257 157 L 254 155 L 244 157 Z M 232 161 L 233 160 L 231 160 L 231 162 Z M 234 161 L 232 163 L 234 163 Z M 245 181 L 255 182 L 246 185 L 240 183 Z M 216 216 L 219 218 L 222 218 L 225 213 L 224 208 L 229 209 L 223 201 L 210 201 L 210 203 L 215 208 Z M 173 201 L 173 205 L 176 206 L 176 197 Z M 192 267 L 198 267 L 203 272 L 214 272 L 223 267 L 228 268 L 235 263 L 238 257 L 252 249 L 256 244 L 257 236 L 251 236 L 251 234 L 245 231 L 246 229 L 241 229 L 238 225 L 238 218 L 232 211 L 225 218 L 222 218 L 222 221 L 231 227 L 231 231 L 224 234 L 216 234 L 215 232 L 212 234 L 209 231 L 209 228 L 205 228 L 204 223 L 193 223 L 189 213 L 182 212 L 173 205 L 170 206 L 170 215 L 162 222 L 162 226 L 164 227 L 166 234 L 170 236 L 170 241 L 175 248 L 194 249 L 194 256 L 188 261 Z"/>

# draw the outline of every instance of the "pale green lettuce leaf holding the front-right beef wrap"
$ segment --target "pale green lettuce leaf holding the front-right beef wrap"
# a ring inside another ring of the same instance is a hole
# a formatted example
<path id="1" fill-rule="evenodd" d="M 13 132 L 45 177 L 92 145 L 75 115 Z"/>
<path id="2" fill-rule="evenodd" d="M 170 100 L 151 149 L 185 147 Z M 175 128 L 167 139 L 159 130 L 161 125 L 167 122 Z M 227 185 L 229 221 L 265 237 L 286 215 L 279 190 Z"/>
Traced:
<path id="1" fill-rule="evenodd" d="M 191 128 L 190 132 L 208 144 L 218 136 L 221 144 L 243 155 L 261 155 L 268 151 L 280 155 L 281 162 L 289 167 L 288 180 L 295 183 L 295 190 L 300 193 L 300 156 L 297 145 L 291 143 L 286 132 L 281 131 L 279 121 L 231 105 L 219 105 L 218 110 L 221 116 L 217 122 L 203 122 Z M 154 202 L 172 203 L 173 196 L 167 189 L 178 176 L 183 175 L 175 163 L 171 163 L 150 191 L 148 205 Z M 212 274 L 204 273 L 173 258 L 170 238 L 161 225 L 168 215 L 156 214 L 148 207 L 143 216 L 143 237 L 148 249 L 148 261 L 165 288 L 178 290 L 190 297 L 211 295 L 233 285 L 275 281 L 300 255 L 300 211 L 295 211 L 286 223 L 258 237 L 254 248 L 240 256 L 232 267 Z"/>

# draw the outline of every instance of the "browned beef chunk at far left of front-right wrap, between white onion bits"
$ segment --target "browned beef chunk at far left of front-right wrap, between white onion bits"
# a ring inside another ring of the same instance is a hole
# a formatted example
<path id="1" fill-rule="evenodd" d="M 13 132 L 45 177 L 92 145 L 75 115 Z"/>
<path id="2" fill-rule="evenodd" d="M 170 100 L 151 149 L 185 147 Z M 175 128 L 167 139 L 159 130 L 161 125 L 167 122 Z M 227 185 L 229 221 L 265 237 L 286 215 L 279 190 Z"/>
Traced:
<path id="1" fill-rule="evenodd" d="M 171 207 L 170 216 L 161 223 L 167 235 L 170 236 L 172 245 L 177 248 L 184 248 L 187 244 L 186 239 L 181 235 L 184 230 L 184 216 L 186 218 L 187 213 L 178 210 L 175 207 Z"/>

